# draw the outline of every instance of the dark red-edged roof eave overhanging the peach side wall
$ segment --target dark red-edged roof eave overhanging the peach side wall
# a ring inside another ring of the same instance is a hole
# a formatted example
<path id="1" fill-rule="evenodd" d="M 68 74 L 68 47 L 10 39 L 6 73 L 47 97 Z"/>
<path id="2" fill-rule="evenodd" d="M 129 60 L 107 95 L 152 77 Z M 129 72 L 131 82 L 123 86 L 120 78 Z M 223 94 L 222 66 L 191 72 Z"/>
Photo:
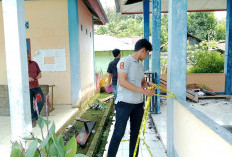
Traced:
<path id="1" fill-rule="evenodd" d="M 83 0 L 89 11 L 93 14 L 93 22 L 97 25 L 104 25 L 108 22 L 105 11 L 99 0 Z"/>

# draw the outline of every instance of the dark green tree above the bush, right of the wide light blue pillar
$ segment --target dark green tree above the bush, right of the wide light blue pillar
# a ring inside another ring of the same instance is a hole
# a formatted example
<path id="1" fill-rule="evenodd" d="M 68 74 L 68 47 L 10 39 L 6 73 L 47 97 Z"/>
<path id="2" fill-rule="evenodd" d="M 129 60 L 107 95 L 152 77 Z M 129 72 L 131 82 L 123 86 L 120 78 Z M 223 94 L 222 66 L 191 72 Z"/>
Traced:
<path id="1" fill-rule="evenodd" d="M 217 19 L 213 12 L 188 13 L 188 32 L 203 40 L 216 39 Z"/>

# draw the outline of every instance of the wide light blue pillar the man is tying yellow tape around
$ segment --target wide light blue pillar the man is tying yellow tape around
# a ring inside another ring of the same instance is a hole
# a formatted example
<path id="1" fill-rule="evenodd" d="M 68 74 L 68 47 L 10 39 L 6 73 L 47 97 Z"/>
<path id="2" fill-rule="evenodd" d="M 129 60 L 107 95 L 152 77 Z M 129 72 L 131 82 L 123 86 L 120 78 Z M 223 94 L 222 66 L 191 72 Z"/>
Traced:
<path id="1" fill-rule="evenodd" d="M 169 0 L 168 10 L 167 88 L 179 99 L 186 100 L 187 0 Z M 169 157 L 174 157 L 173 98 L 167 102 L 167 151 Z"/>

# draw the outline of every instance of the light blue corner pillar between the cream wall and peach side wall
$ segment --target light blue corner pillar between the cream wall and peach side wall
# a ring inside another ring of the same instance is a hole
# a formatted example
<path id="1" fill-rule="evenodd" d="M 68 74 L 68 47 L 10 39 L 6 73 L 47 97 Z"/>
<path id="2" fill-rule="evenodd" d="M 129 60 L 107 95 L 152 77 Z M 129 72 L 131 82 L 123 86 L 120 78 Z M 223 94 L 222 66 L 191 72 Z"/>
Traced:
<path id="1" fill-rule="evenodd" d="M 68 0 L 69 49 L 71 64 L 72 105 L 81 99 L 81 69 L 79 43 L 79 17 L 77 0 Z"/>

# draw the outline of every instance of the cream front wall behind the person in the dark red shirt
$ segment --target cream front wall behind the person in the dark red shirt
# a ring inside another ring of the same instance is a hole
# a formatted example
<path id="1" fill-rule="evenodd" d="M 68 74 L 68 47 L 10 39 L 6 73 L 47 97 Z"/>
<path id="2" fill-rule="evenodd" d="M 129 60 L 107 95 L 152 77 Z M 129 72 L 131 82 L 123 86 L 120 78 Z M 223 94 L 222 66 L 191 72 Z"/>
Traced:
<path id="1" fill-rule="evenodd" d="M 0 12 L 2 6 L 0 4 Z M 31 41 L 31 53 L 40 56 L 38 50 L 65 50 L 66 69 L 64 71 L 42 71 L 40 84 L 55 85 L 54 104 L 71 104 L 71 78 L 68 35 L 68 6 L 66 0 L 25 1 L 25 20 L 30 28 L 26 37 Z M 2 14 L 0 16 L 0 85 L 7 84 L 5 49 Z M 25 52 L 26 53 L 26 52 Z M 41 57 L 41 56 L 40 56 Z M 45 59 L 45 58 L 44 58 Z M 45 61 L 47 64 L 56 62 L 54 57 Z"/>

